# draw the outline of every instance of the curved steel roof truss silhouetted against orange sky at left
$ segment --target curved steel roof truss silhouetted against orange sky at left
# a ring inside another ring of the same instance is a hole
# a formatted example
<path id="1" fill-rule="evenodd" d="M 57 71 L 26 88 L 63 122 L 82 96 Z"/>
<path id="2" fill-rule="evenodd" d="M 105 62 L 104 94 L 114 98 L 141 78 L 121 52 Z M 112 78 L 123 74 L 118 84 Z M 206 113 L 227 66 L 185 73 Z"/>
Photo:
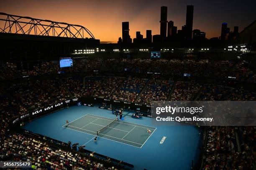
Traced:
<path id="1" fill-rule="evenodd" d="M 95 39 L 92 32 L 81 25 L 6 13 L 0 13 L 0 33 Z"/>

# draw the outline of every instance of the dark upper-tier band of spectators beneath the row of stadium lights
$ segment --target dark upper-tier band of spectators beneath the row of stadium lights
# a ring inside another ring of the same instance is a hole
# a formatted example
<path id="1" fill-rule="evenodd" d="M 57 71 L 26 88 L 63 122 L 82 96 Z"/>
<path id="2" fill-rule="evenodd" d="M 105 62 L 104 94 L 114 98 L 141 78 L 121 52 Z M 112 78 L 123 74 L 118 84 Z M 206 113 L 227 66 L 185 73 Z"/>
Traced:
<path id="1" fill-rule="evenodd" d="M 31 67 L 32 65 L 32 67 Z M 17 67 L 13 62 L 0 63 L 0 77 L 12 79 L 36 75 L 55 74 L 57 72 L 133 72 L 133 73 L 159 73 L 165 76 L 183 76 L 189 73 L 196 77 L 210 77 L 226 80 L 228 77 L 236 81 L 255 83 L 256 76 L 245 61 L 228 60 L 152 60 L 152 59 L 74 59 L 73 67 L 60 67 L 59 61 L 21 62 Z"/>

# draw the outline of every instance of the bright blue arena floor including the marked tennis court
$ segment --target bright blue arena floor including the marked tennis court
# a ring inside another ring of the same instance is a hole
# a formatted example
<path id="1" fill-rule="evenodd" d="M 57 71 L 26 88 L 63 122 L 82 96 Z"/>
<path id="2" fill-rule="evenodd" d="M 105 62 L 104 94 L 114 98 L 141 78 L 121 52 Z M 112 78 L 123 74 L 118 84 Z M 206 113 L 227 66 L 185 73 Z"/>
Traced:
<path id="1" fill-rule="evenodd" d="M 135 119 L 125 110 L 125 120 L 118 120 L 100 132 L 97 130 L 115 119 L 110 110 L 72 106 L 26 123 L 24 129 L 56 140 L 85 145 L 85 149 L 134 165 L 135 170 L 190 170 L 197 162 L 200 135 L 193 126 L 153 126 L 150 117 Z M 66 125 L 65 120 L 69 120 Z M 152 133 L 147 133 L 147 128 Z M 161 144 L 160 141 L 166 137 Z"/>

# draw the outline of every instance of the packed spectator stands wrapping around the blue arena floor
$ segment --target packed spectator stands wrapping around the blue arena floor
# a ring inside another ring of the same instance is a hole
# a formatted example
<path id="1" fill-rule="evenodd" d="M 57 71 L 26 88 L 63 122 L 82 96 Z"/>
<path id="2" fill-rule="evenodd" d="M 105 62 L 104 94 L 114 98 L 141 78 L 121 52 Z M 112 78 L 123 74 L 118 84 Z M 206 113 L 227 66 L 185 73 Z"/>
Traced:
<path id="1" fill-rule="evenodd" d="M 70 150 L 61 141 L 9 133 L 13 118 L 72 97 L 143 105 L 165 100 L 256 100 L 252 88 L 255 68 L 243 60 L 97 58 L 73 62 L 74 67 L 60 68 L 57 61 L 36 61 L 26 69 L 18 68 L 15 62 L 0 62 L 1 160 L 30 160 L 38 170 L 125 168 L 93 153 Z M 184 77 L 184 73 L 193 78 Z M 256 155 L 255 132 L 254 126 L 207 127 L 200 167 L 251 170 Z"/>

